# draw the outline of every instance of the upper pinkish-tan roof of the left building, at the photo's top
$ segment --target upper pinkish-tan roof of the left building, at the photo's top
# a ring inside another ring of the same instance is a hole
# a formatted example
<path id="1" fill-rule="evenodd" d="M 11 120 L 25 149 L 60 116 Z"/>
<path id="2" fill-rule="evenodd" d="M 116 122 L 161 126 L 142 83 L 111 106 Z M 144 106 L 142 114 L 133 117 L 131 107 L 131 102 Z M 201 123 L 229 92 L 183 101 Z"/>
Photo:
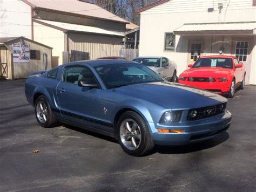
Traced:
<path id="1" fill-rule="evenodd" d="M 111 20 L 119 23 L 129 23 L 113 13 L 100 8 L 93 3 L 86 3 L 78 0 L 23 0 L 26 4 L 35 9 L 48 9 L 58 12 L 65 12 L 77 16 Z"/>

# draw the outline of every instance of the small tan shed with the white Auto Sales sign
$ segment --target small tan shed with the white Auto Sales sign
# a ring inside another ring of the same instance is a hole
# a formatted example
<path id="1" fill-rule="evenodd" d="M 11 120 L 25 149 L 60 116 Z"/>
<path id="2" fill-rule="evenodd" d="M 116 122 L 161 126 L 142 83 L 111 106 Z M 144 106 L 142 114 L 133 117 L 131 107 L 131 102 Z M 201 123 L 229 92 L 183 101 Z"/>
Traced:
<path id="1" fill-rule="evenodd" d="M 0 77 L 27 78 L 51 69 L 52 47 L 25 37 L 0 38 Z"/>

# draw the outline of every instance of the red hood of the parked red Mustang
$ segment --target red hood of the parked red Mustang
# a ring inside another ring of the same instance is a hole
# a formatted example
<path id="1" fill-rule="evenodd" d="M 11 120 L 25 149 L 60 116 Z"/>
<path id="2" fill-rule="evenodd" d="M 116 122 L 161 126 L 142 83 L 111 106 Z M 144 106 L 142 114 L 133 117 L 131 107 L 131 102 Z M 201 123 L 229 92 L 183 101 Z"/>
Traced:
<path id="1" fill-rule="evenodd" d="M 190 68 L 181 74 L 181 77 L 227 77 L 232 68 L 198 67 Z"/>

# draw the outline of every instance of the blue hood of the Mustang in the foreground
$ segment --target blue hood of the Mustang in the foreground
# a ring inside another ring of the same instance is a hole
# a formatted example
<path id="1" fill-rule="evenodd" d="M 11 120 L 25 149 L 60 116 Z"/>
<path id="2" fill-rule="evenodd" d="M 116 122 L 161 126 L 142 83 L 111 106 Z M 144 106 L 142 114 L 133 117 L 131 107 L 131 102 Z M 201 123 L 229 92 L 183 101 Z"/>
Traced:
<path id="1" fill-rule="evenodd" d="M 199 108 L 227 102 L 221 95 L 166 81 L 123 86 L 116 91 L 124 97 L 146 100 L 168 109 Z"/>

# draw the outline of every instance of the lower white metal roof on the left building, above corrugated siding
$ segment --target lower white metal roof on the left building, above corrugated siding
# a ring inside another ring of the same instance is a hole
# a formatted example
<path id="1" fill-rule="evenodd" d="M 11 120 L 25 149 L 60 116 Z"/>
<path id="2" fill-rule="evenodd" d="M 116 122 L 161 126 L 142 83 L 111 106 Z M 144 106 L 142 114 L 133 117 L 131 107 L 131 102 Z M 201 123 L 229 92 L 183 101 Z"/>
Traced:
<path id="1" fill-rule="evenodd" d="M 109 36 L 119 36 L 123 37 L 124 34 L 113 32 L 110 30 L 105 30 L 102 28 L 97 28 L 95 26 L 87 26 L 87 25 L 77 25 L 72 23 L 63 23 L 63 22 L 53 22 L 51 20 L 43 20 L 43 19 L 33 19 L 34 22 L 49 26 L 51 28 L 55 28 L 57 30 L 61 30 L 63 32 L 84 32 L 84 33 L 94 33 L 99 35 L 109 35 Z"/>

